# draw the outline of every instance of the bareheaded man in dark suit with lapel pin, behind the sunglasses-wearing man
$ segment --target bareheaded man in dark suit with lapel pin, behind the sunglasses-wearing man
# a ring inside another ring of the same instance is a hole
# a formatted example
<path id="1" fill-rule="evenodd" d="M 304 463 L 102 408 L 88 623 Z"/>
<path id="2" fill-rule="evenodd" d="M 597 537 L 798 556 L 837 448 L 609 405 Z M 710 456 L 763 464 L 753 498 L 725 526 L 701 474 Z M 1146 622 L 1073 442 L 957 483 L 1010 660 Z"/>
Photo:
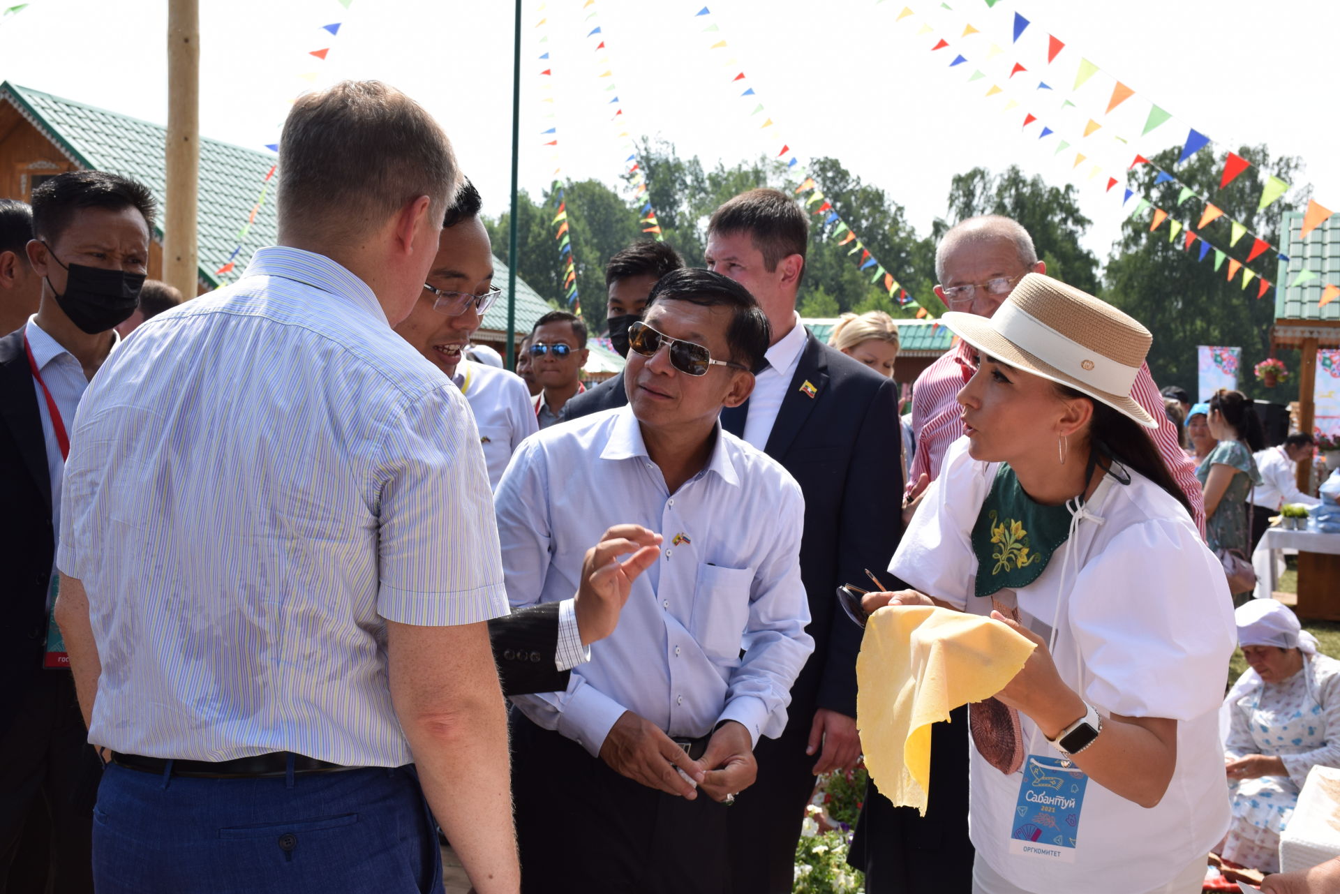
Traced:
<path id="1" fill-rule="evenodd" d="M 860 629 L 836 590 L 887 568 L 902 532 L 898 398 L 890 379 L 820 343 L 796 314 L 809 222 L 776 189 L 718 208 L 708 225 L 708 268 L 742 283 L 772 323 L 768 363 L 744 406 L 721 422 L 766 450 L 800 483 L 805 531 L 800 572 L 815 653 L 791 689 L 787 729 L 756 749 L 758 781 L 730 812 L 734 894 L 792 886 L 796 843 L 815 776 L 851 768 Z"/>

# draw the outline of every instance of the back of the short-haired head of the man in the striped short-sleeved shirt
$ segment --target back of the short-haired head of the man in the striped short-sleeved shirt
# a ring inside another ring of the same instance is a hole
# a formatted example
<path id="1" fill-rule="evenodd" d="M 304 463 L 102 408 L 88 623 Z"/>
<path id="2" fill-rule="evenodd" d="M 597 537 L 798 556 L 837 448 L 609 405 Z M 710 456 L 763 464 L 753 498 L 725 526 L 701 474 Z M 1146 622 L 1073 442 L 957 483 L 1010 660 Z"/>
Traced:
<path id="1" fill-rule="evenodd" d="M 346 80 L 293 103 L 279 139 L 280 241 L 355 244 L 419 196 L 446 213 L 460 173 L 422 106 L 377 80 Z"/>

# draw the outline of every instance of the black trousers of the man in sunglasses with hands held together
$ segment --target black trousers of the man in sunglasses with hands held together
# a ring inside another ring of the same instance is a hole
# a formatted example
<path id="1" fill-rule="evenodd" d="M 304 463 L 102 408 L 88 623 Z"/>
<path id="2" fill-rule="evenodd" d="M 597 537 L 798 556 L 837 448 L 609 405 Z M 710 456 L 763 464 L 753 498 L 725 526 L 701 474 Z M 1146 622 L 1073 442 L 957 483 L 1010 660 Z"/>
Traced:
<path id="1" fill-rule="evenodd" d="M 511 712 L 523 894 L 729 894 L 726 812 L 620 776 Z"/>

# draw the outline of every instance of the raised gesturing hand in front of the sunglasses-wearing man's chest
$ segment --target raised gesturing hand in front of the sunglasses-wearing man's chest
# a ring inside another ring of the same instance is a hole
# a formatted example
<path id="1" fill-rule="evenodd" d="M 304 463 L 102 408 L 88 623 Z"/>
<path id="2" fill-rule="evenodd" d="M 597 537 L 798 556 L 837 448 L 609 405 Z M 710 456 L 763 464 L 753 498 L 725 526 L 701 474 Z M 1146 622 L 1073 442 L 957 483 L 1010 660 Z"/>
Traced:
<path id="1" fill-rule="evenodd" d="M 659 543 L 661 535 L 642 525 L 616 524 L 587 550 L 575 603 L 583 646 L 614 633 L 632 582 L 661 555 Z M 628 552 L 632 555 L 619 562 Z"/>

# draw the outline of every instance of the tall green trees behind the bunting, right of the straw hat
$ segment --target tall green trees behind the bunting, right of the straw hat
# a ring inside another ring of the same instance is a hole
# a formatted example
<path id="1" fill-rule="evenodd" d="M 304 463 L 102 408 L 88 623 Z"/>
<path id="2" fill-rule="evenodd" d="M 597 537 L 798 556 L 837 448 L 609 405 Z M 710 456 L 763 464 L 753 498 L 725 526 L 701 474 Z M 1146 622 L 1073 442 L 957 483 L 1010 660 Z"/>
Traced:
<path id="1" fill-rule="evenodd" d="M 1168 149 L 1152 158 L 1159 168 L 1171 172 L 1178 158 L 1178 149 Z M 1293 181 L 1300 173 L 1297 158 L 1272 159 L 1265 146 L 1245 146 L 1238 154 L 1252 158 L 1254 166 L 1245 170 L 1226 189 L 1219 189 L 1219 173 L 1223 169 L 1223 155 L 1201 151 L 1177 169 L 1179 180 L 1202 196 L 1213 196 L 1214 204 L 1223 209 L 1225 216 L 1206 225 L 1205 237 L 1217 248 L 1229 251 L 1229 217 L 1235 217 L 1262 239 L 1278 244 L 1280 214 L 1292 210 L 1294 204 L 1282 198 L 1265 212 L 1257 210 L 1261 197 L 1262 170 L 1274 173 L 1286 181 Z M 1154 185 L 1158 172 L 1150 165 L 1140 165 L 1131 177 L 1132 188 L 1144 194 L 1155 208 L 1168 212 L 1172 218 L 1195 227 L 1201 220 L 1203 205 L 1189 200 L 1178 206 L 1181 188 L 1175 182 Z M 1130 206 L 1134 210 L 1136 200 Z M 1257 284 L 1253 280 L 1246 290 L 1238 277 L 1226 281 L 1227 264 L 1214 269 L 1214 252 L 1198 261 L 1199 245 L 1183 251 L 1185 239 L 1179 235 L 1168 243 L 1168 224 L 1150 233 L 1152 209 L 1134 214 L 1122 227 L 1122 239 L 1114 247 L 1116 257 L 1107 265 L 1107 288 L 1103 298 L 1122 308 L 1154 332 L 1154 346 L 1150 348 L 1150 371 L 1159 385 L 1179 385 L 1194 394 L 1197 389 L 1197 344 L 1241 346 L 1238 387 L 1249 397 L 1280 399 L 1250 375 L 1252 367 L 1270 353 L 1270 326 L 1274 323 L 1274 304 L 1270 300 L 1257 300 Z M 1250 237 L 1244 237 L 1231 249 L 1240 260 L 1246 257 Z M 1256 271 L 1265 271 L 1274 280 L 1274 269 L 1266 260 L 1273 253 L 1253 261 Z M 1269 294 L 1268 294 L 1269 295 Z M 1284 351 L 1281 359 L 1292 369 L 1298 367 L 1297 353 Z"/>

